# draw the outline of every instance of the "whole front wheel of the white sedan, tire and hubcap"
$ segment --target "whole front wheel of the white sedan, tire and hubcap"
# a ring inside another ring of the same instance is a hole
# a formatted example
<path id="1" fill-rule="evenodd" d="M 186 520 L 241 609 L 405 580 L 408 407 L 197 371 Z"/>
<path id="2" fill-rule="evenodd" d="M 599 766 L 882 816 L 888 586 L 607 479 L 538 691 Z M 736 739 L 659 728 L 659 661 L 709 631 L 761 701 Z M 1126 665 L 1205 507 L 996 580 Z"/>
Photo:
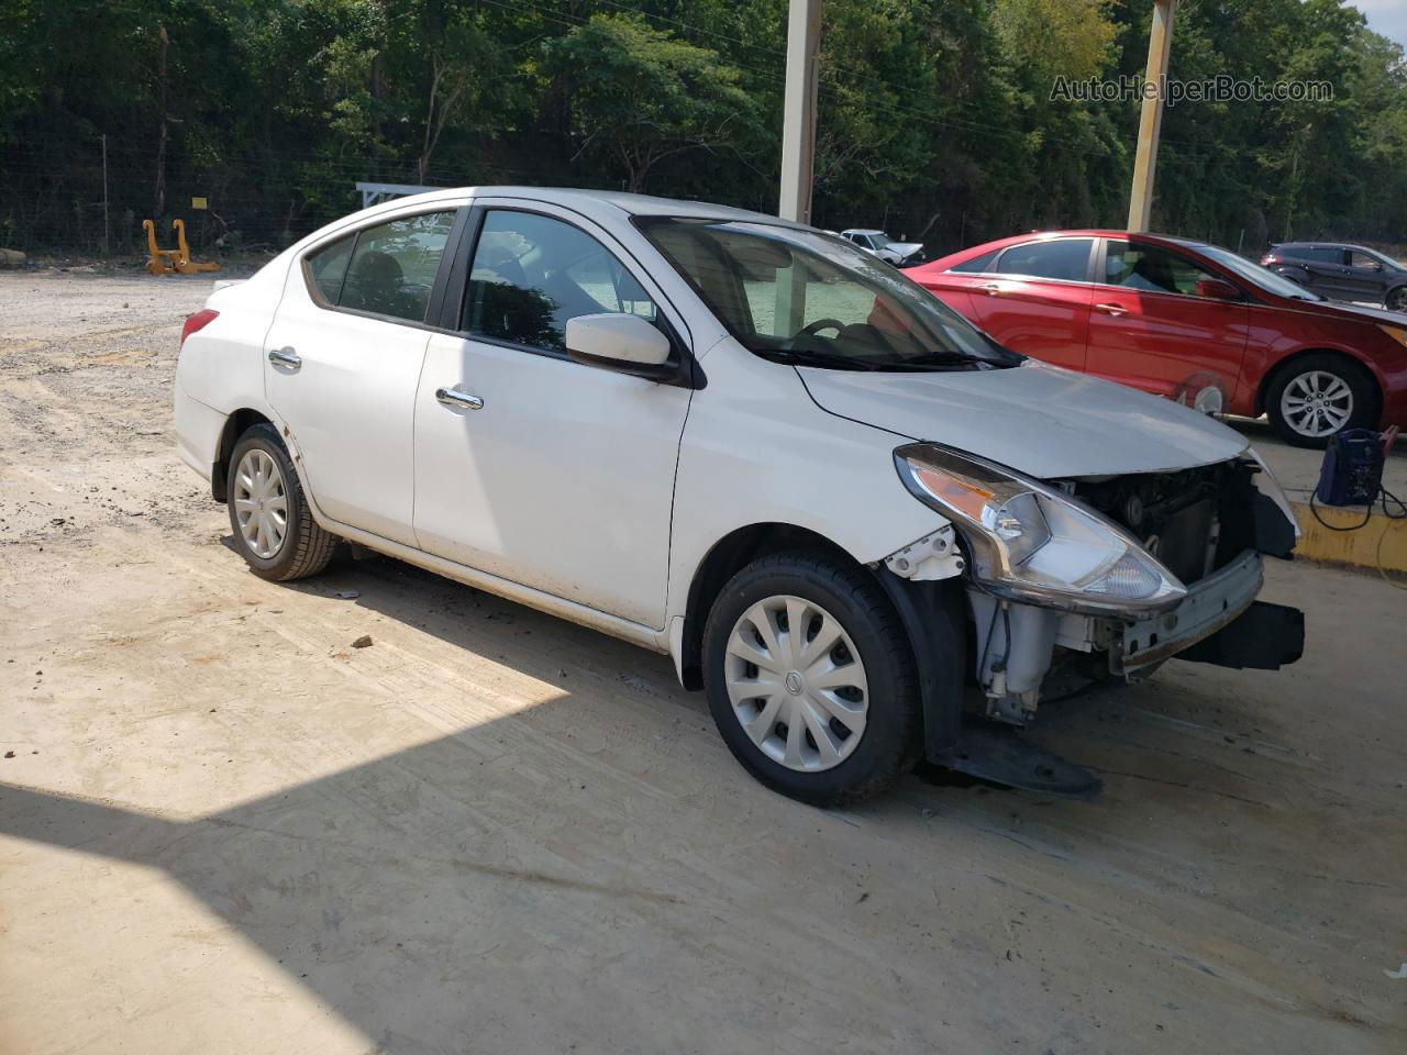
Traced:
<path id="1" fill-rule="evenodd" d="M 725 743 L 784 795 L 855 802 L 915 758 L 909 639 L 862 568 L 806 551 L 747 565 L 709 612 L 704 671 Z"/>

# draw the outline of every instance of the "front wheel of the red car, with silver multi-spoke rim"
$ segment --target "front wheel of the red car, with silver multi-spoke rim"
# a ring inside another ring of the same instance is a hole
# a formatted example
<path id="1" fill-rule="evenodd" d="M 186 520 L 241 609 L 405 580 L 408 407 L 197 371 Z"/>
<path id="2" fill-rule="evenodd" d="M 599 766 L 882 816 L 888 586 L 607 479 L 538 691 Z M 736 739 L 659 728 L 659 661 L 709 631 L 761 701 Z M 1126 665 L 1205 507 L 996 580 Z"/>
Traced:
<path id="1" fill-rule="evenodd" d="M 1344 429 L 1377 421 L 1377 385 L 1344 356 L 1316 353 L 1282 369 L 1266 392 L 1271 425 L 1297 447 L 1324 447 Z"/>

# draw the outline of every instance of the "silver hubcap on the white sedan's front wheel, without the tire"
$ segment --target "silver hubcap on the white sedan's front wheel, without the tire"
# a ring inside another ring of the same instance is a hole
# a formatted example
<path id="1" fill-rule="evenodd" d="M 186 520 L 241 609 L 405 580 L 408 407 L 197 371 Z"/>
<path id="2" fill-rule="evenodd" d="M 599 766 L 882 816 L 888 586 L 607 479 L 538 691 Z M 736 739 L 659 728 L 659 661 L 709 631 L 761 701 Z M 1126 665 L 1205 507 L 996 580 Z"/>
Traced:
<path id="1" fill-rule="evenodd" d="M 865 665 L 820 605 L 789 595 L 758 601 L 733 626 L 723 674 L 743 731 L 788 769 L 830 769 L 860 746 Z"/>

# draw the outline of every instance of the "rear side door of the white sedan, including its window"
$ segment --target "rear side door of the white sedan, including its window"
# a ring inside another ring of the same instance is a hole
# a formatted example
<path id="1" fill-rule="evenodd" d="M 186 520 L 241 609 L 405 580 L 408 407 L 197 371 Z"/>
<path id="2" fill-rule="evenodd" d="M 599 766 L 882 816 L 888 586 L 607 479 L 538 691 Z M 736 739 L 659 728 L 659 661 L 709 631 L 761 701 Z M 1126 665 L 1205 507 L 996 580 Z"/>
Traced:
<path id="1" fill-rule="evenodd" d="M 265 338 L 265 395 L 318 506 L 407 546 L 415 385 L 456 215 L 439 205 L 314 248 Z"/>

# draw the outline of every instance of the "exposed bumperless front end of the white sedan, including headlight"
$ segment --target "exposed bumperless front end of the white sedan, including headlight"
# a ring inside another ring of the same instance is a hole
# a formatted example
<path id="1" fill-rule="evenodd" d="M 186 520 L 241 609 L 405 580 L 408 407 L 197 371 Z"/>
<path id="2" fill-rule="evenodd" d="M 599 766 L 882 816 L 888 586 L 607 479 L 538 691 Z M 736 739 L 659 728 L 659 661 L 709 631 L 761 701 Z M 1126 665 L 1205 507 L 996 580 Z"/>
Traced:
<path id="1" fill-rule="evenodd" d="M 1303 613 L 1256 601 L 1262 556 L 1290 557 L 1299 530 L 1252 450 L 1173 471 L 1036 480 L 909 443 L 895 466 L 948 523 L 884 561 L 891 595 L 910 626 L 924 584 L 961 577 L 968 602 L 964 713 L 926 696 L 930 761 L 1089 795 L 1100 786 L 1092 774 L 1002 730 L 1031 723 L 1045 701 L 1144 678 L 1172 657 L 1276 670 L 1303 651 Z"/>

